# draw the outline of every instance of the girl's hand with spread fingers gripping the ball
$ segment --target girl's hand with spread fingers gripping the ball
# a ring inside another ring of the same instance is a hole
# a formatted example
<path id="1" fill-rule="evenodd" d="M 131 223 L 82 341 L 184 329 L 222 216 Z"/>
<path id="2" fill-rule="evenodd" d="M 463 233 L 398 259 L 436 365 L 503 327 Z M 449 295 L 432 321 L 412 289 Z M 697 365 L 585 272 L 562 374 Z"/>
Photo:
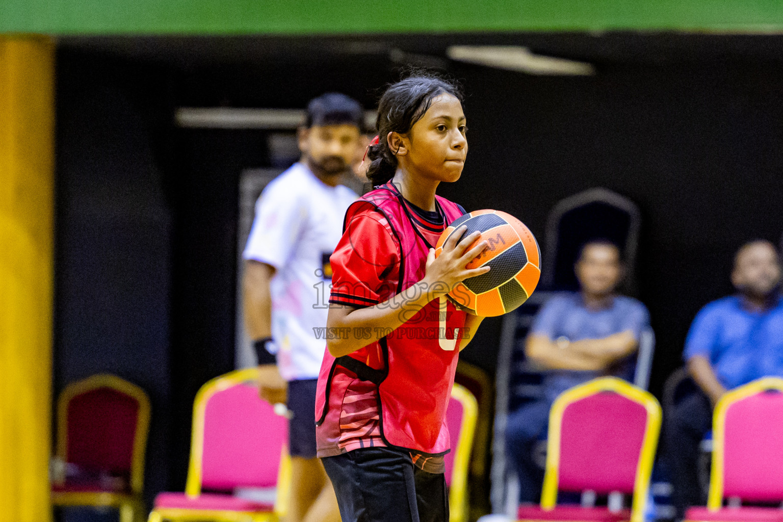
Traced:
<path id="1" fill-rule="evenodd" d="M 449 239 L 446 239 L 446 243 L 443 243 L 443 250 L 437 259 L 435 258 L 435 249 L 430 249 L 427 254 L 427 265 L 424 268 L 424 283 L 427 283 L 429 289 L 437 291 L 441 290 L 437 286 L 446 286 L 447 288 L 442 289 L 445 290 L 442 293 L 449 293 L 456 283 L 489 272 L 487 265 L 479 268 L 465 268 L 465 265 L 473 261 L 475 257 L 478 257 L 478 254 L 482 253 L 482 250 L 489 246 L 486 241 L 481 241 L 468 250 L 467 247 L 470 247 L 471 243 L 481 236 L 481 232 L 477 230 L 462 237 L 466 229 L 467 226 L 462 225 Z M 442 283 L 442 285 L 437 283 Z"/>

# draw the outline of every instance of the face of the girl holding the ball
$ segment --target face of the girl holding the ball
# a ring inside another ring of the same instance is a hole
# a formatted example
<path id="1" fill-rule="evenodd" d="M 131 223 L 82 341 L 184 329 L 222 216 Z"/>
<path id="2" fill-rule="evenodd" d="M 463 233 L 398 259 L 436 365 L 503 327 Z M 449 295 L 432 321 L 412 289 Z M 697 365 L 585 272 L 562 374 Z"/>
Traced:
<path id="1" fill-rule="evenodd" d="M 391 150 L 403 168 L 440 182 L 456 182 L 467 156 L 465 114 L 460 100 L 442 94 L 432 103 L 406 135 L 392 138 Z"/>

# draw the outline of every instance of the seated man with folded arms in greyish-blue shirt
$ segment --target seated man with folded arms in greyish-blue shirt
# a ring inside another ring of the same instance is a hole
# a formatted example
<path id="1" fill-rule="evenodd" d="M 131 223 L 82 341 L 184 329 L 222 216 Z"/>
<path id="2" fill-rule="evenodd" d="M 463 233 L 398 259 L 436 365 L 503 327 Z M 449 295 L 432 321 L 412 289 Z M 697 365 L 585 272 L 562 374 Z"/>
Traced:
<path id="1" fill-rule="evenodd" d="M 561 293 L 543 305 L 525 342 L 525 355 L 544 372 L 543 394 L 508 416 L 507 455 L 520 485 L 520 502 L 539 502 L 543 471 L 533 462 L 536 442 L 547 435 L 557 395 L 598 376 L 628 376 L 641 331 L 649 325 L 644 304 L 620 296 L 619 248 L 604 240 L 582 247 L 574 266 L 581 291 Z M 619 372 L 623 366 L 626 372 Z"/>

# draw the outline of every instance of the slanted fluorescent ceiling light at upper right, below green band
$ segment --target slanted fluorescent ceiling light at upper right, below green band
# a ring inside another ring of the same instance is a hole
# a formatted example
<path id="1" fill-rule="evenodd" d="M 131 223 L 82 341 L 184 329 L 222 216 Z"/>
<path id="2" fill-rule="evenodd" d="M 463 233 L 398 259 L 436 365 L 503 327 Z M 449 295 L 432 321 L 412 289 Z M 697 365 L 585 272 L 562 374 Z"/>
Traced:
<path id="1" fill-rule="evenodd" d="M 527 74 L 595 74 L 595 67 L 591 63 L 537 55 L 520 45 L 452 45 L 446 49 L 446 56 L 458 62 Z"/>

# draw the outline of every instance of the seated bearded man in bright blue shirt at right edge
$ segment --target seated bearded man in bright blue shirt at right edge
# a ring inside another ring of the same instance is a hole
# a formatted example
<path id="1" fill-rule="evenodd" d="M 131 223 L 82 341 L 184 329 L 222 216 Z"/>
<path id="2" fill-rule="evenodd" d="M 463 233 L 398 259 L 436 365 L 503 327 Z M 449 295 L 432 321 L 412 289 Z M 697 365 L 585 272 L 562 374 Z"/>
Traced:
<path id="1" fill-rule="evenodd" d="M 678 518 L 704 504 L 698 488 L 698 445 L 713 424 L 716 402 L 731 388 L 763 376 L 783 376 L 781 266 L 769 241 L 752 241 L 734 257 L 731 283 L 738 294 L 707 304 L 696 315 L 683 358 L 704 394 L 666 412 L 666 460 L 673 474 Z"/>

